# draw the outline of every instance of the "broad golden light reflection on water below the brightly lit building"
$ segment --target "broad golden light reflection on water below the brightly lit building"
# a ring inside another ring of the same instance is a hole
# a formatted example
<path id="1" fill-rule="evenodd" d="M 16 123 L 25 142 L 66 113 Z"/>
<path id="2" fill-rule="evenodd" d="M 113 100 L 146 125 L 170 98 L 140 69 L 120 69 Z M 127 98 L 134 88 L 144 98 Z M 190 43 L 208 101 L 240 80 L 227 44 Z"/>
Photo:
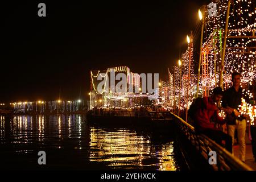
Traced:
<path id="1" fill-rule="evenodd" d="M 176 171 L 173 143 L 152 144 L 150 137 L 131 130 L 90 130 L 90 161 L 112 168 L 154 167 Z"/>

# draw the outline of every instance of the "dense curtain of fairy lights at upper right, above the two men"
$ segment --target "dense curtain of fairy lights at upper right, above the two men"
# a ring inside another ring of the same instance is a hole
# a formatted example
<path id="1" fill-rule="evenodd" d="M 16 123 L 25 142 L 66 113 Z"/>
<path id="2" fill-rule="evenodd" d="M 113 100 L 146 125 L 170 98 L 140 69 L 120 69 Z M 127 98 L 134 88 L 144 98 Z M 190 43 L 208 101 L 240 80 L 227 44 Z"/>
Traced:
<path id="1" fill-rule="evenodd" d="M 205 19 L 206 28 L 204 35 L 206 36 L 204 36 L 202 52 L 207 52 L 209 77 L 201 78 L 200 87 L 208 84 L 209 89 L 213 89 L 216 82 L 218 83 L 222 48 L 220 46 L 222 44 L 222 34 L 225 27 L 227 1 L 217 1 L 217 7 L 216 17 L 211 17 L 208 14 L 208 9 L 205 10 L 205 15 L 208 16 L 206 16 Z M 228 30 L 229 38 L 227 39 L 224 61 L 224 82 L 228 85 L 232 84 L 230 80 L 230 73 L 232 73 L 232 71 L 241 73 L 242 83 L 251 82 L 256 77 L 255 51 L 250 49 L 250 47 L 254 47 L 255 45 L 255 38 L 249 37 L 256 32 L 255 5 L 253 6 L 251 1 L 236 1 L 234 5 L 230 7 Z M 247 38 L 238 38 L 238 36 L 247 36 Z M 214 73 L 214 62 L 216 63 L 216 73 Z"/>

